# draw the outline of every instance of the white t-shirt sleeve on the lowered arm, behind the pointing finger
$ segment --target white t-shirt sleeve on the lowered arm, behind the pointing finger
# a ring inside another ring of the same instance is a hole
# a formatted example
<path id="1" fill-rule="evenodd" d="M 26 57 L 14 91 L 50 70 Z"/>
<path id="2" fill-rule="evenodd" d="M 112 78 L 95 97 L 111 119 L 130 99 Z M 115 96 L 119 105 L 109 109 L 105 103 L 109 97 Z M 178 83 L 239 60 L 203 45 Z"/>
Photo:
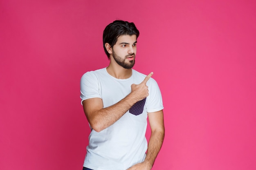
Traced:
<path id="1" fill-rule="evenodd" d="M 157 112 L 159 110 L 162 110 L 164 108 L 162 95 L 155 79 L 150 78 L 150 80 L 147 83 L 147 86 L 148 86 L 148 93 L 149 93 L 146 101 L 147 112 L 150 113 L 150 112 Z"/>

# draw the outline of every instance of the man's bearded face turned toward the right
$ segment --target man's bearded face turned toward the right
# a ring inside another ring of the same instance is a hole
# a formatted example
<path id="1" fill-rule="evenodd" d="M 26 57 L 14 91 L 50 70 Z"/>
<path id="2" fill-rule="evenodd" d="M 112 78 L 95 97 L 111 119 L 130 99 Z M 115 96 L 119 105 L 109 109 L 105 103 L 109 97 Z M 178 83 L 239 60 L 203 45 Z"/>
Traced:
<path id="1" fill-rule="evenodd" d="M 135 64 L 136 44 L 136 35 L 119 36 L 117 43 L 112 47 L 112 56 L 115 62 L 123 68 L 132 68 Z"/>

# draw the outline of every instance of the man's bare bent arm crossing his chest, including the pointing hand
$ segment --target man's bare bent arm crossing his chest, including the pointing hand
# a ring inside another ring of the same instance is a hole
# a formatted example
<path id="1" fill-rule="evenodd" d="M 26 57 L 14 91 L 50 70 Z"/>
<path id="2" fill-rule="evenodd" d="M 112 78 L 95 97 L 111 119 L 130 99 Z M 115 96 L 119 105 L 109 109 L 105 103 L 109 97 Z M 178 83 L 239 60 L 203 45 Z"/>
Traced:
<path id="1" fill-rule="evenodd" d="M 100 132 L 120 119 L 136 102 L 148 96 L 146 82 L 153 75 L 150 73 L 140 84 L 131 85 L 131 93 L 116 104 L 103 108 L 101 98 L 83 101 L 83 110 L 93 130 Z"/>

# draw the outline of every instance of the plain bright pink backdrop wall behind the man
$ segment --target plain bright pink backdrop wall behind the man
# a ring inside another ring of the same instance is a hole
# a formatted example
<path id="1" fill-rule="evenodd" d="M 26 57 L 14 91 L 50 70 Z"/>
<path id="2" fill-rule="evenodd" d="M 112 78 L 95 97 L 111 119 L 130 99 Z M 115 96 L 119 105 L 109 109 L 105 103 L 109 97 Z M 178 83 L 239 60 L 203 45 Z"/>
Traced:
<path id="1" fill-rule="evenodd" d="M 135 69 L 162 91 L 153 170 L 255 170 L 255 0 L 0 0 L 0 169 L 82 169 L 80 78 L 108 65 L 116 19 L 136 24 Z"/>

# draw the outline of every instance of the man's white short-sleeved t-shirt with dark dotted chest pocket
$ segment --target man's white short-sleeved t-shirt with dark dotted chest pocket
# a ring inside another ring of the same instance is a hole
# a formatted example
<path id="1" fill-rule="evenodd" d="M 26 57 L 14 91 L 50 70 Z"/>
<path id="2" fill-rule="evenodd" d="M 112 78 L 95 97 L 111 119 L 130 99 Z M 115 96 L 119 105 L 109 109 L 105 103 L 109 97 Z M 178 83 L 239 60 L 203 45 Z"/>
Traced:
<path id="1" fill-rule="evenodd" d="M 89 71 L 81 78 L 81 102 L 99 97 L 103 108 L 112 106 L 131 92 L 131 84 L 140 84 L 146 75 L 132 69 L 128 79 L 117 79 L 106 68 Z M 91 128 L 83 166 L 93 170 L 126 170 L 145 159 L 148 112 L 162 110 L 163 102 L 157 82 L 146 83 L 149 95 L 137 102 L 118 121 L 96 132 Z"/>

